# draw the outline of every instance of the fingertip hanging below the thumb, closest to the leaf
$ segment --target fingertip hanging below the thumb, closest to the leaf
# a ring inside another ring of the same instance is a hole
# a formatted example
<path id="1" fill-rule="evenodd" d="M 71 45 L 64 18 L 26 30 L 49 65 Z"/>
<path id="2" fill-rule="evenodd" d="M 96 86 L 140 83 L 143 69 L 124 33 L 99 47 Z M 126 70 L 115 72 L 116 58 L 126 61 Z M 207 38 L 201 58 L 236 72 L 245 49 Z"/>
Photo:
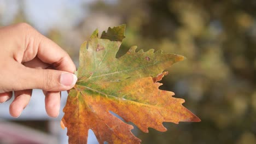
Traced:
<path id="1" fill-rule="evenodd" d="M 45 93 L 45 92 L 44 92 Z M 45 110 L 50 117 L 59 116 L 60 111 L 60 92 L 46 92 L 45 93 Z"/>

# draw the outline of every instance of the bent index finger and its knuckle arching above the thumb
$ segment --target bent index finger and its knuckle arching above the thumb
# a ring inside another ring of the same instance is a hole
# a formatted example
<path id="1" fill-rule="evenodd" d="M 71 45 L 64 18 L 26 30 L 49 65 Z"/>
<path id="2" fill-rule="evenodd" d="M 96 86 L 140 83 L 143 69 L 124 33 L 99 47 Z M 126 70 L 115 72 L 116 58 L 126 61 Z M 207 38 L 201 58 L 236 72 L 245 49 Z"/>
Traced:
<path id="1" fill-rule="evenodd" d="M 0 32 L 1 44 L 3 47 L 8 47 L 6 49 L 11 51 L 10 56 L 15 61 L 28 62 L 37 56 L 42 62 L 53 65 L 57 70 L 69 73 L 74 73 L 76 70 L 66 51 L 27 23 L 0 28 Z"/>

